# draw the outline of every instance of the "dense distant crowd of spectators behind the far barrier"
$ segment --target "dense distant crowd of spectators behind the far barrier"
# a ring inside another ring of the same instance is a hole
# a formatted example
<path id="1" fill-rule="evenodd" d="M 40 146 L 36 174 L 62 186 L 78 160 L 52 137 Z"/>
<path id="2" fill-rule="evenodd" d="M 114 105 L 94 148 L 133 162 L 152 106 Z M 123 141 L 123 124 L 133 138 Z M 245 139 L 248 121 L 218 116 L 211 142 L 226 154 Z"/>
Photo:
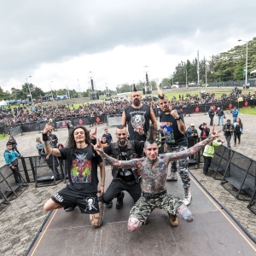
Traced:
<path id="1" fill-rule="evenodd" d="M 256 98 L 256 93 L 250 92 L 242 94 L 241 90 L 234 87 L 230 95 L 223 94 L 219 99 L 214 93 L 208 93 L 201 90 L 200 95 L 185 96 L 179 95 L 178 99 L 173 96 L 171 103 L 177 108 L 186 108 L 188 106 L 200 106 L 207 103 L 230 102 L 232 100 L 253 99 Z M 149 105 L 153 110 L 160 109 L 158 98 L 147 96 L 143 103 Z M 88 117 L 102 114 L 121 114 L 123 110 L 131 105 L 131 101 L 126 98 L 113 98 L 108 102 L 81 103 L 79 108 L 74 108 L 73 104 L 58 104 L 56 106 L 38 105 L 34 106 L 19 105 L 15 108 L 2 107 L 0 108 L 0 125 L 13 126 L 27 124 L 32 122 L 46 122 L 49 120 L 68 119 L 75 117 Z"/>

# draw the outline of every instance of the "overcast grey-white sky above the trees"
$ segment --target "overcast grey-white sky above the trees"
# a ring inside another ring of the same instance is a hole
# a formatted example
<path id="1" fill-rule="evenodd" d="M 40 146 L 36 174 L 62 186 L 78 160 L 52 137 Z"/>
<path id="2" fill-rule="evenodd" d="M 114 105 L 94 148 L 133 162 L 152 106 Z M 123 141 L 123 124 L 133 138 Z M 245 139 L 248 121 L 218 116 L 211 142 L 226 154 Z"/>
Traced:
<path id="1" fill-rule="evenodd" d="M 170 77 L 256 37 L 255 0 L 0 0 L 0 86 L 81 91 Z M 146 67 L 147 66 L 147 67 Z M 32 76 L 30 78 L 30 76 Z M 52 82 L 51 82 L 52 81 Z"/>

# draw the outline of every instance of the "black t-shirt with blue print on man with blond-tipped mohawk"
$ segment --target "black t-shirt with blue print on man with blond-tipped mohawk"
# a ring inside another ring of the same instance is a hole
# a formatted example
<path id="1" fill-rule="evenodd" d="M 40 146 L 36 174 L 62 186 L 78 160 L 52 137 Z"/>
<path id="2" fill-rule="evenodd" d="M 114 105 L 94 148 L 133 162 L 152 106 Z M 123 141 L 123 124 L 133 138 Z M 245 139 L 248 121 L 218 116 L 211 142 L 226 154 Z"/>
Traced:
<path id="1" fill-rule="evenodd" d="M 180 116 L 184 123 L 183 113 L 177 109 L 177 114 Z M 185 134 L 178 131 L 177 120 L 171 113 L 161 113 L 160 123 L 164 128 L 166 136 L 166 144 L 172 147 L 184 146 L 188 147 L 188 139 Z"/>

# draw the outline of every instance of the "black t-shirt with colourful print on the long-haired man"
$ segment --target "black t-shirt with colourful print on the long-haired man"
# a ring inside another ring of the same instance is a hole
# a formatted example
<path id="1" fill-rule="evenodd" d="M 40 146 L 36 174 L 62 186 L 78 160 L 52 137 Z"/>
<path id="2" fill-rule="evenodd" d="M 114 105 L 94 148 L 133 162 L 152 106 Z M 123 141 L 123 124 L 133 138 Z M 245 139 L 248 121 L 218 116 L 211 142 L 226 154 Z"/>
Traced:
<path id="1" fill-rule="evenodd" d="M 102 157 L 88 145 L 86 148 L 61 148 L 61 159 L 67 160 L 69 187 L 75 191 L 97 193 L 97 166 Z"/>

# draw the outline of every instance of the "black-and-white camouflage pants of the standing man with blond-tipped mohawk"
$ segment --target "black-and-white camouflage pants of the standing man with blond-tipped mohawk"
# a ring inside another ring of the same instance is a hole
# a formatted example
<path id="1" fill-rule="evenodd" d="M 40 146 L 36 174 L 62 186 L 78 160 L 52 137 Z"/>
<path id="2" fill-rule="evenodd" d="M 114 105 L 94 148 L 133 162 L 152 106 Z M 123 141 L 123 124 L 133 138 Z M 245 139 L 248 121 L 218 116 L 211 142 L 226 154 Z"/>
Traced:
<path id="1" fill-rule="evenodd" d="M 170 146 L 167 147 L 167 151 L 170 153 L 174 152 L 179 152 L 187 149 L 187 147 L 179 146 L 177 148 L 172 148 Z M 179 176 L 181 177 L 183 181 L 183 188 L 187 189 L 190 187 L 190 177 L 189 177 L 189 157 L 182 159 L 182 160 L 177 160 L 177 161 L 172 161 L 171 162 L 171 171 L 172 172 L 178 172 Z"/>

